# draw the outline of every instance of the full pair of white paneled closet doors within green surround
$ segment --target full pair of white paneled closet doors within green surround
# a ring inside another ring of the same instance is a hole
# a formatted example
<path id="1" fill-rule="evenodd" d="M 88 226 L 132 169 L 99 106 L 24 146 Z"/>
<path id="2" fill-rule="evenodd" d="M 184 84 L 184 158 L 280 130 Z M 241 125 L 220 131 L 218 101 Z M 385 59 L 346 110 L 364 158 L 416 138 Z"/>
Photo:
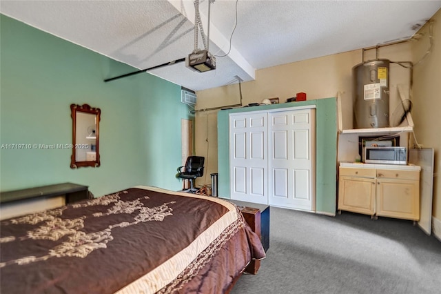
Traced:
<path id="1" fill-rule="evenodd" d="M 315 109 L 229 117 L 232 199 L 315 210 Z"/>

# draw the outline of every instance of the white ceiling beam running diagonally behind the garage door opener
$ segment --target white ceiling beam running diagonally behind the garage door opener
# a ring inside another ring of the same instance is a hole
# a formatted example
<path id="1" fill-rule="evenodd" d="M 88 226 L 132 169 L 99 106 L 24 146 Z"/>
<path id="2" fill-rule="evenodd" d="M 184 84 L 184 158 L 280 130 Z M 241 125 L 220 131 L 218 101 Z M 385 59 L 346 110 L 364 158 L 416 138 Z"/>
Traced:
<path id="1" fill-rule="evenodd" d="M 185 1 L 185 0 L 167 0 L 176 10 L 181 12 L 184 17 L 186 17 L 191 23 L 194 25 L 194 2 L 193 1 Z M 216 9 L 216 2 L 212 4 L 212 10 Z M 203 14 L 203 12 L 199 11 L 201 14 L 201 20 L 205 23 L 204 29 L 207 30 L 207 19 L 208 17 Z M 209 40 L 212 41 L 218 48 L 227 47 L 227 50 L 224 50 L 225 53 L 229 49 L 229 39 L 227 39 L 222 33 L 216 28 L 214 23 L 210 23 L 209 26 Z M 191 53 L 191 52 L 188 52 Z M 210 52 L 212 53 L 212 52 Z M 248 61 L 240 54 L 240 52 L 231 46 L 231 50 L 228 54 L 229 59 L 232 59 L 234 63 L 237 64 L 242 70 L 244 70 L 249 77 L 252 79 L 256 79 L 256 69 L 248 63 Z M 226 58 L 226 57 L 225 57 Z"/>

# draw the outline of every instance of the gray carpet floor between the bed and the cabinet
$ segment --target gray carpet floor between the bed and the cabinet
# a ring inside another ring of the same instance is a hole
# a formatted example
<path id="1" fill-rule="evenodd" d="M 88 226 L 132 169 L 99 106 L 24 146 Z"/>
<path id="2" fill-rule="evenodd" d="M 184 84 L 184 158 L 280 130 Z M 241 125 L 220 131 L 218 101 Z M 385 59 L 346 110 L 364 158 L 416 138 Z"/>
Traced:
<path id="1" fill-rule="evenodd" d="M 267 258 L 232 294 L 441 293 L 441 242 L 413 222 L 271 207 Z"/>

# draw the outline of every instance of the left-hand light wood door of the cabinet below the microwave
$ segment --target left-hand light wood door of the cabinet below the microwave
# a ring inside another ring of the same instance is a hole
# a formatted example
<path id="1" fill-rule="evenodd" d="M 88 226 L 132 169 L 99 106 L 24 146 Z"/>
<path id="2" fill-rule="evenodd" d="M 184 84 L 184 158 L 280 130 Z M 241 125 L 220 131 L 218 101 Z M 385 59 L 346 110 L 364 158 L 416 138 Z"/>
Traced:
<path id="1" fill-rule="evenodd" d="M 338 210 L 373 215 L 376 186 L 374 178 L 340 176 L 338 181 Z"/>

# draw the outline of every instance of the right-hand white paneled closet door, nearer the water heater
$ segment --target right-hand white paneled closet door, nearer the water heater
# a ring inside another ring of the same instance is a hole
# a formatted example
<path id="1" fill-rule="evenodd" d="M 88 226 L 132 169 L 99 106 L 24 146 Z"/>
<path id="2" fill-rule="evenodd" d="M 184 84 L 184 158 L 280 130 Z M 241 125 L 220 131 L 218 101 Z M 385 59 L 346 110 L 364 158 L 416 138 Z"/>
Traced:
<path id="1" fill-rule="evenodd" d="M 269 112 L 269 204 L 315 210 L 314 109 Z"/>

